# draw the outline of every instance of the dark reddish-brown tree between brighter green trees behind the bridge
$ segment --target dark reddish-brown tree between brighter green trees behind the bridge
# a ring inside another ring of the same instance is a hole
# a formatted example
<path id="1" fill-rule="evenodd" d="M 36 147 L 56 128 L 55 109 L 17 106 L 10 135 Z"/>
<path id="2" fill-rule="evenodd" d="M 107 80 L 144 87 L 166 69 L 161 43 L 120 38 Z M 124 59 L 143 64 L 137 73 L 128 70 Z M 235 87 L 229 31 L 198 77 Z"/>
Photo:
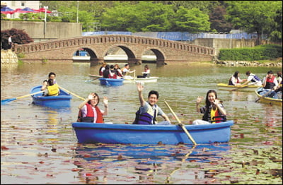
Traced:
<path id="1" fill-rule="evenodd" d="M 231 23 L 225 20 L 226 10 L 224 6 L 216 6 L 212 13 L 209 14 L 209 22 L 211 23 L 211 30 L 217 32 L 230 32 L 232 29 Z"/>

